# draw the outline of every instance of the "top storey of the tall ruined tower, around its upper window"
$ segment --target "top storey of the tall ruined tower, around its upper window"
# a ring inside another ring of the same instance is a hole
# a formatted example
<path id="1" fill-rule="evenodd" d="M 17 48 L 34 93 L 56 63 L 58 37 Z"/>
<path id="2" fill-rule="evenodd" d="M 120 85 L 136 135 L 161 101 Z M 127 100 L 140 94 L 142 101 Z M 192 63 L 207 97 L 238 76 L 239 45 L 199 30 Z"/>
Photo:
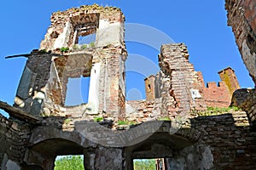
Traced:
<path id="1" fill-rule="evenodd" d="M 97 4 L 84 5 L 80 8 L 55 12 L 50 20 L 51 26 L 41 42 L 41 49 L 73 48 L 77 44 L 79 28 L 86 29 L 85 35 L 96 33 L 96 47 L 109 44 L 121 45 L 124 41 L 125 17 L 119 8 L 104 8 Z"/>

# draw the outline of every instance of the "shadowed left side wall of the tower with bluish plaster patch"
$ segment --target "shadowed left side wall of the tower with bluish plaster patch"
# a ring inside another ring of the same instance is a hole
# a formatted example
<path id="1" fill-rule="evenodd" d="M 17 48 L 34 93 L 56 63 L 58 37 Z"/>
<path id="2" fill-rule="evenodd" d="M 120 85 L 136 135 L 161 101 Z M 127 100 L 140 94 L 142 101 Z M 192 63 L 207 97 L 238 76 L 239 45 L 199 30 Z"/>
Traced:
<path id="1" fill-rule="evenodd" d="M 20 79 L 15 97 L 15 106 L 38 116 L 45 97 L 45 85 L 48 83 L 51 55 L 32 52 Z"/>

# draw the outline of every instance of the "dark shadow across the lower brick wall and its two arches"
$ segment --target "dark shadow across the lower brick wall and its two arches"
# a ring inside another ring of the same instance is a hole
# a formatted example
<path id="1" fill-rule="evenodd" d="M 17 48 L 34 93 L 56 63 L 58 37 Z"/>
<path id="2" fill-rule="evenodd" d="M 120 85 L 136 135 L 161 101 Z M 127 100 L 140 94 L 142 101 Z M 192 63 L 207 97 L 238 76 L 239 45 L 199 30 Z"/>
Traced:
<path id="1" fill-rule="evenodd" d="M 31 155 L 27 160 L 31 164 L 42 157 L 50 164 L 58 155 L 84 154 L 85 161 L 93 162 L 85 166 L 94 168 L 124 168 L 124 160 L 132 166 L 133 159 L 159 157 L 166 157 L 166 166 L 174 169 L 235 168 L 241 166 L 241 159 L 255 168 L 256 137 L 247 115 L 241 112 L 199 116 L 190 119 L 190 128 L 181 128 L 176 133 L 169 131 L 171 122 L 160 122 L 160 128 L 152 132 L 158 122 L 113 131 L 96 122 L 72 122 L 63 117 L 47 119 L 52 124 L 32 130 Z"/>

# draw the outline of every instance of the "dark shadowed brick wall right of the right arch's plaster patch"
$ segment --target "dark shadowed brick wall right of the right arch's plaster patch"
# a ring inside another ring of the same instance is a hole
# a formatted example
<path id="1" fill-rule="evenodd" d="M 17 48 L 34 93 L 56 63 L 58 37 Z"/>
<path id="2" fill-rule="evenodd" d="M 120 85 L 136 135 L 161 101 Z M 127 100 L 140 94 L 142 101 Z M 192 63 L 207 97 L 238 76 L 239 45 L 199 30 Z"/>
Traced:
<path id="1" fill-rule="evenodd" d="M 239 112 L 222 116 L 197 117 L 191 127 L 201 132 L 199 144 L 210 146 L 214 169 L 254 169 L 256 133 L 247 115 Z"/>

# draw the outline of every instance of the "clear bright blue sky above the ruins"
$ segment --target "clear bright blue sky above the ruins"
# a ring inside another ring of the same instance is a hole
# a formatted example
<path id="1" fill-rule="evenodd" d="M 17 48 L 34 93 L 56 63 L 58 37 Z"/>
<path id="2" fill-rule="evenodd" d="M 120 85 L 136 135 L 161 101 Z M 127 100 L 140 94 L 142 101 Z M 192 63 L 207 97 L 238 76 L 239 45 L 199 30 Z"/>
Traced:
<path id="1" fill-rule="evenodd" d="M 241 88 L 253 87 L 253 81 L 248 76 L 236 47 L 231 27 L 227 26 L 224 0 L 9 0 L 0 3 L 1 100 L 13 104 L 26 63 L 25 58 L 4 57 L 27 54 L 33 48 L 38 48 L 53 12 L 93 3 L 119 7 L 125 14 L 126 23 L 152 26 L 165 32 L 175 42 L 184 42 L 189 48 L 190 62 L 195 65 L 196 71 L 202 71 L 205 82 L 218 82 L 217 72 L 231 66 L 236 71 Z M 157 65 L 158 49 L 137 42 L 127 42 L 127 49 L 128 53 L 144 56 Z M 127 88 L 143 91 L 143 80 L 132 82 L 132 79 L 127 79 Z M 141 84 L 140 87 L 135 86 L 137 84 Z M 141 93 L 144 97 L 143 92 Z"/>

